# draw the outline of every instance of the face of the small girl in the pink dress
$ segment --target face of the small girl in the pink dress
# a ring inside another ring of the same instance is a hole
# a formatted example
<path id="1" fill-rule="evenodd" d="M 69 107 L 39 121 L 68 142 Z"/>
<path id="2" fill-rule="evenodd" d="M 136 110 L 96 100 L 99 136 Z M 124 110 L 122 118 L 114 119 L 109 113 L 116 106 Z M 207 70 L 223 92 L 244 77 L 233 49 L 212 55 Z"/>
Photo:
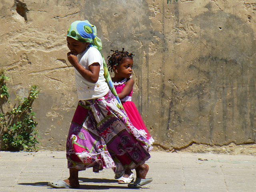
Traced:
<path id="1" fill-rule="evenodd" d="M 130 78 L 132 75 L 133 60 L 131 58 L 123 58 L 122 62 L 116 66 L 116 75 L 122 78 Z"/>

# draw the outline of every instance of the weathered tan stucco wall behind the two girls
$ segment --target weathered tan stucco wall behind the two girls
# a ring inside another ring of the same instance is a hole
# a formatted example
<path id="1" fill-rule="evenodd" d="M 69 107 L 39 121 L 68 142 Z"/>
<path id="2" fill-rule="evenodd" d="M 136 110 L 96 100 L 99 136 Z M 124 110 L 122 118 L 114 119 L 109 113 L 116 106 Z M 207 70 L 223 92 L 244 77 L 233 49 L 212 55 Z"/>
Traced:
<path id="1" fill-rule="evenodd" d="M 254 0 L 0 2 L 0 67 L 10 92 L 41 87 L 33 104 L 41 149 L 65 148 L 78 101 L 65 36 L 85 19 L 105 60 L 111 49 L 135 54 L 133 101 L 156 146 L 255 143 Z"/>

